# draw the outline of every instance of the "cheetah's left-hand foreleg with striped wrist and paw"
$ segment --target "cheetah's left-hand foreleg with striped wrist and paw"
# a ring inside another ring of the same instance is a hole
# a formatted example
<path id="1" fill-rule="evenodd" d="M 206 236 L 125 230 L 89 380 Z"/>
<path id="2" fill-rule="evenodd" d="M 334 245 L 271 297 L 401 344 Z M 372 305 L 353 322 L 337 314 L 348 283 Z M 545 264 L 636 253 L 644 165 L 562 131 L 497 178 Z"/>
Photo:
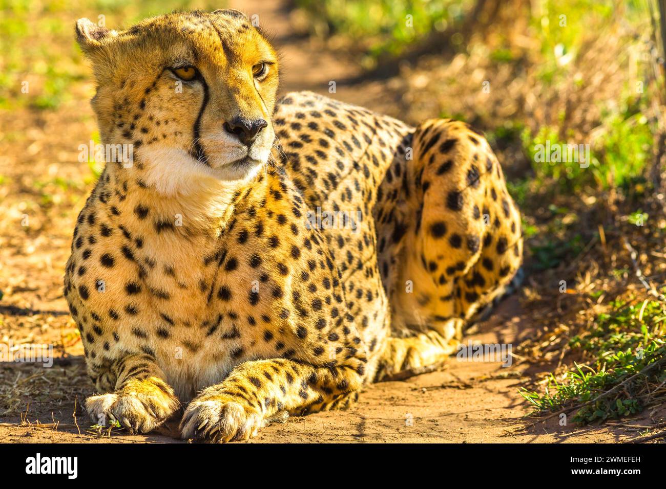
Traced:
<path id="1" fill-rule="evenodd" d="M 86 408 L 93 420 L 107 424 L 118 420 L 131 432 L 149 432 L 179 407 L 173 389 L 151 355 L 136 354 L 118 359 L 106 377 L 115 378 L 113 393 L 91 396 Z"/>

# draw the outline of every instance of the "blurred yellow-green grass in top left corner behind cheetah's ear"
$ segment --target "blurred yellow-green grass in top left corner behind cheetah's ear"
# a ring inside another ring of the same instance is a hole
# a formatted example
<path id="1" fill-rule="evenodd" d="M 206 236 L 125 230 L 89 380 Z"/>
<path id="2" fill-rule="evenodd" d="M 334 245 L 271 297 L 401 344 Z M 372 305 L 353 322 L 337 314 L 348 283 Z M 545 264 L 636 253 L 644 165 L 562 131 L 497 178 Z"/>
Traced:
<path id="1" fill-rule="evenodd" d="M 220 2 L 0 0 L 0 110 L 55 109 L 72 100 L 72 84 L 89 75 L 74 40 L 77 19 L 88 17 L 113 29 L 168 11 L 196 8 L 218 9 Z M 23 82 L 28 82 L 27 93 L 21 91 Z"/>

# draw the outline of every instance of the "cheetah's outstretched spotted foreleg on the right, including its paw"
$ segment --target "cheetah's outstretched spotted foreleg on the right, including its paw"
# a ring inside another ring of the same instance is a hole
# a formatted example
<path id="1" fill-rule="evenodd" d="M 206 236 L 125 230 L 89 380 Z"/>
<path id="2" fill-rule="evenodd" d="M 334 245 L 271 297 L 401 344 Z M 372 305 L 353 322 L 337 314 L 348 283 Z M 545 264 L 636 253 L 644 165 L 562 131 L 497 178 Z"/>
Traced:
<path id="1" fill-rule="evenodd" d="M 188 405 L 180 422 L 182 438 L 248 440 L 282 414 L 346 407 L 362 385 L 357 370 L 288 359 L 243 363 Z"/>

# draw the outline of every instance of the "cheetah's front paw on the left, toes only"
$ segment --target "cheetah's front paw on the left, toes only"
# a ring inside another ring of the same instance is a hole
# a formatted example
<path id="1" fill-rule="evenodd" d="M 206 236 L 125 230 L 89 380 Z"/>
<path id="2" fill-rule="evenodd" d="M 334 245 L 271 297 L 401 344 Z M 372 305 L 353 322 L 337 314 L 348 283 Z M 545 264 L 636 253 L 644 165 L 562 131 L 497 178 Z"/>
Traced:
<path id="1" fill-rule="evenodd" d="M 147 433 L 165 422 L 178 408 L 178 400 L 166 395 L 119 392 L 91 396 L 85 406 L 95 422 L 118 420 L 132 433 Z"/>

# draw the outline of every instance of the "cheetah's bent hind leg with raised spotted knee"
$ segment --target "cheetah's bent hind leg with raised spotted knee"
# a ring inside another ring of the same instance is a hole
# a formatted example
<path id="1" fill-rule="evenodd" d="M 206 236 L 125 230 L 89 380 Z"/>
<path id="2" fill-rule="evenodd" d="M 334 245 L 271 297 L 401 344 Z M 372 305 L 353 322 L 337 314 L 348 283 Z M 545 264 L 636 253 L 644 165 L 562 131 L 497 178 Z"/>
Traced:
<path id="1" fill-rule="evenodd" d="M 488 142 L 463 122 L 433 119 L 412 143 L 402 208 L 408 229 L 391 298 L 394 334 L 408 337 L 388 340 L 378 379 L 445 361 L 465 322 L 520 264 L 519 213 Z"/>

